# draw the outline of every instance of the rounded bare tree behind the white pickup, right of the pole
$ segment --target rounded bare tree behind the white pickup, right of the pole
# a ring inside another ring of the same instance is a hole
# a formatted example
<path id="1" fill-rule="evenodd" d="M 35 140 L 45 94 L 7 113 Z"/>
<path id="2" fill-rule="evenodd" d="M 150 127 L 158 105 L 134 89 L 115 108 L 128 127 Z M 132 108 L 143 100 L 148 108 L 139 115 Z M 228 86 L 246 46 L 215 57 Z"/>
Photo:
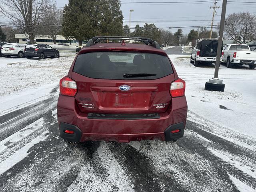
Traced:
<path id="1" fill-rule="evenodd" d="M 230 14 L 225 20 L 224 32 L 239 43 L 256 40 L 256 15 L 249 12 Z"/>

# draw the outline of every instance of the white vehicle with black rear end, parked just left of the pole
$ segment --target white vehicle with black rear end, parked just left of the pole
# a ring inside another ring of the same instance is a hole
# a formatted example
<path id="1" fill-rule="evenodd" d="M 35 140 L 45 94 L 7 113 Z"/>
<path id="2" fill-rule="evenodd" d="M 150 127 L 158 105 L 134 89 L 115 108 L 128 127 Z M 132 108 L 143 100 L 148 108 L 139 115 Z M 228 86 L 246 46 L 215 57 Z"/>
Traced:
<path id="1" fill-rule="evenodd" d="M 191 52 L 190 63 L 193 63 L 194 66 L 198 66 L 199 63 L 215 63 L 217 47 L 218 39 L 198 40 Z M 220 58 L 220 61 L 222 61 L 222 58 Z"/>

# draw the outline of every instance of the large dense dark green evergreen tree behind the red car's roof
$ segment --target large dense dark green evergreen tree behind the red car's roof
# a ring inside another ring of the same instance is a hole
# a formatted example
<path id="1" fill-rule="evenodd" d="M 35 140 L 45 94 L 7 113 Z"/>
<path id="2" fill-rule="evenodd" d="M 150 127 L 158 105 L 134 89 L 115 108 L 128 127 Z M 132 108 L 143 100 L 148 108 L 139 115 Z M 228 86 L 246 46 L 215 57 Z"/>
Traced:
<path id="1" fill-rule="evenodd" d="M 69 0 L 63 10 L 62 33 L 81 46 L 93 36 L 122 35 L 122 19 L 119 0 Z"/>

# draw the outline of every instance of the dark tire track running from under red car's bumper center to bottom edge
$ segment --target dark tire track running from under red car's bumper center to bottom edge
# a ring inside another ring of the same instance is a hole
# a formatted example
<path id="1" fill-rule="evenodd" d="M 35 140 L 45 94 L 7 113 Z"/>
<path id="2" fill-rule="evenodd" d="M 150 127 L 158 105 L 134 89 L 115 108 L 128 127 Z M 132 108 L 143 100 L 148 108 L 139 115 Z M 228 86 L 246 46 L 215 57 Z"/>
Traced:
<path id="1" fill-rule="evenodd" d="M 124 143 L 112 143 L 108 147 L 122 168 L 130 173 L 130 180 L 134 184 L 135 191 L 187 191 L 172 177 L 155 172 L 152 169 L 149 156 L 142 154 L 132 146 Z"/>

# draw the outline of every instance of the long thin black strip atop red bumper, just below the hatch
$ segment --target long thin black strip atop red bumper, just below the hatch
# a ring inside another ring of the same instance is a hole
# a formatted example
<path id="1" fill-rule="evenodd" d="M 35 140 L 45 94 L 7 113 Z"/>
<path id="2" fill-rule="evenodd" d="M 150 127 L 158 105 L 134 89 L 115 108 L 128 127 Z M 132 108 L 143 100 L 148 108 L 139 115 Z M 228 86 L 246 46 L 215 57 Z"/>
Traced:
<path id="1" fill-rule="evenodd" d="M 103 114 L 103 113 L 88 113 L 88 119 L 159 119 L 158 113 L 150 114 Z"/>

